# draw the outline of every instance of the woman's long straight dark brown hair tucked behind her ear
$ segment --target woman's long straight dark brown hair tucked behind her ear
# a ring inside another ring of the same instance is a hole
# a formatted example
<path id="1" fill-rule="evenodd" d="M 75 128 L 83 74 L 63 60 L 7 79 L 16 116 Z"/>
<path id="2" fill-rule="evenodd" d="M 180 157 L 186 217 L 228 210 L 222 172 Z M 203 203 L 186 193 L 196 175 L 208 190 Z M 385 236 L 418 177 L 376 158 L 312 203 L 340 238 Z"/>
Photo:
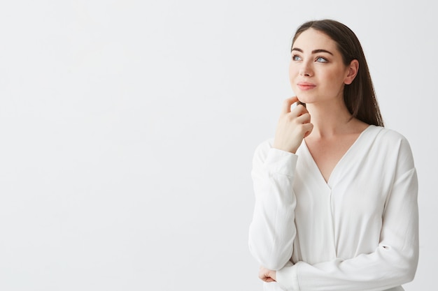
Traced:
<path id="1" fill-rule="evenodd" d="M 298 36 L 310 28 L 325 33 L 337 43 L 338 50 L 341 52 L 346 66 L 353 59 L 357 59 L 359 62 L 358 75 L 351 84 L 346 84 L 344 87 L 344 102 L 348 111 L 353 117 L 367 124 L 384 126 L 365 54 L 355 33 L 345 24 L 335 20 L 309 21 L 302 24 L 295 32 L 292 47 Z"/>

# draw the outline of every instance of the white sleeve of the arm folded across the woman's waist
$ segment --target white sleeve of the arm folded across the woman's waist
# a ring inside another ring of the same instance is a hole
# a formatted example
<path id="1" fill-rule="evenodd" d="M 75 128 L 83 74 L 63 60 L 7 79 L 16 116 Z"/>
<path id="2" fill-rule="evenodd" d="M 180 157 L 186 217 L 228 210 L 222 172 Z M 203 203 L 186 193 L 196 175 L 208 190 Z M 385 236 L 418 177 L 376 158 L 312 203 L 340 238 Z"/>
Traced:
<path id="1" fill-rule="evenodd" d="M 287 291 L 379 291 L 412 281 L 418 264 L 417 195 L 414 161 L 402 140 L 376 249 L 346 260 L 288 262 L 276 273 L 278 284 Z"/>

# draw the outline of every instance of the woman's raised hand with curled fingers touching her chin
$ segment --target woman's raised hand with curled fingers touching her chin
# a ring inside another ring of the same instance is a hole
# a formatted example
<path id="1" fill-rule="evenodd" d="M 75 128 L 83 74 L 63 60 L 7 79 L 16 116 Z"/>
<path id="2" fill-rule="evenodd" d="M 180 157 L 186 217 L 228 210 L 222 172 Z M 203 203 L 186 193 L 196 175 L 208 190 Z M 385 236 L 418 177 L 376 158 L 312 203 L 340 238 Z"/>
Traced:
<path id="1" fill-rule="evenodd" d="M 308 136 L 313 129 L 306 107 L 297 105 L 293 110 L 290 109 L 292 104 L 297 101 L 296 96 L 284 101 L 274 137 L 275 149 L 290 151 L 293 154 L 297 151 L 304 137 Z"/>

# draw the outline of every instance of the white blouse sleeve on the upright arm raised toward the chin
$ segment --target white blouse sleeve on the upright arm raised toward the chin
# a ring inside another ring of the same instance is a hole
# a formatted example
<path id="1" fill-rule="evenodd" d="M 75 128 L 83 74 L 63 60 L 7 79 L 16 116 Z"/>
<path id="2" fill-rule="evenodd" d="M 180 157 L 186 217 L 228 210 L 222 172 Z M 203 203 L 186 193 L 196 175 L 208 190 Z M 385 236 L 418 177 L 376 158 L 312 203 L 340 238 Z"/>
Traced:
<path id="1" fill-rule="evenodd" d="M 249 229 L 249 248 L 262 266 L 278 270 L 292 257 L 296 205 L 292 181 L 297 156 L 260 144 L 253 158 L 255 207 Z"/>

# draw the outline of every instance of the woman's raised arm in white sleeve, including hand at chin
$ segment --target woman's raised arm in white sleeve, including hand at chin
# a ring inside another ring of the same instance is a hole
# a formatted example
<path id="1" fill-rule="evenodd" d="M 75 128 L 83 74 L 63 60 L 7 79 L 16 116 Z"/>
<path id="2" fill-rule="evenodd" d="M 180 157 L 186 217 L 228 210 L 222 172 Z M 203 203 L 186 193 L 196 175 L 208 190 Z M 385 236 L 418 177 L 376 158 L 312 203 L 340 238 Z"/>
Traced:
<path id="1" fill-rule="evenodd" d="M 297 97 L 283 103 L 273 145 L 257 147 L 253 158 L 255 207 L 249 230 L 249 248 L 263 267 L 278 270 L 292 256 L 296 199 L 292 189 L 297 151 L 313 125 L 306 108 L 291 110 Z"/>

